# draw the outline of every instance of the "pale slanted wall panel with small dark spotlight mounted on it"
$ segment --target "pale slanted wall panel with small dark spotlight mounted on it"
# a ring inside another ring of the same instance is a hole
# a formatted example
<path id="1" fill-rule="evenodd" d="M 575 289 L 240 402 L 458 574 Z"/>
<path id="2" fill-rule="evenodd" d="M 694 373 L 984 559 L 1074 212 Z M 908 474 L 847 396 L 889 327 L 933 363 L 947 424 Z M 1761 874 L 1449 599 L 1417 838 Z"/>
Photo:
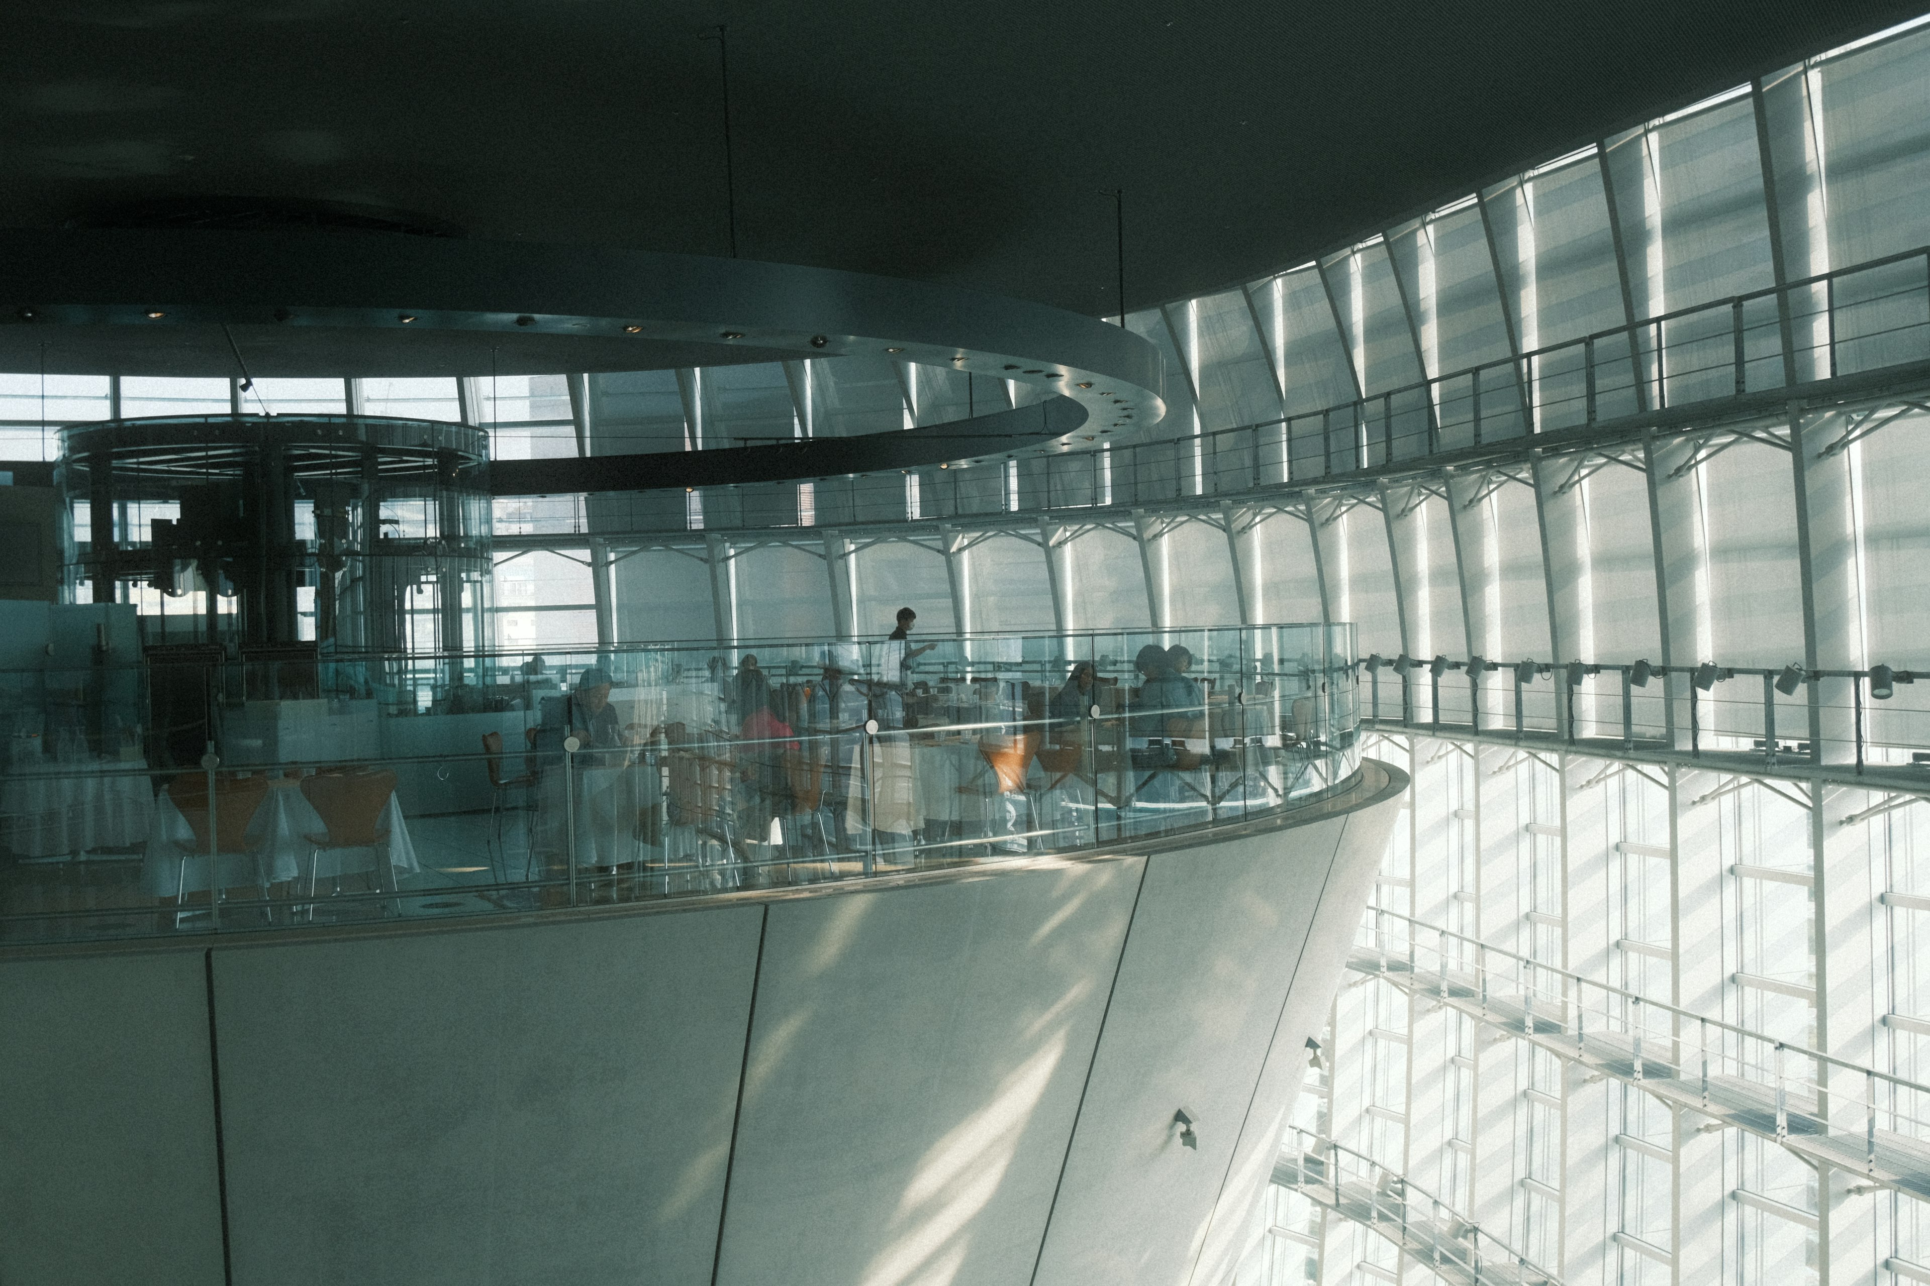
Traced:
<path id="1" fill-rule="evenodd" d="M 1040 1286 L 1187 1282 L 1345 821 L 1148 860 Z"/>

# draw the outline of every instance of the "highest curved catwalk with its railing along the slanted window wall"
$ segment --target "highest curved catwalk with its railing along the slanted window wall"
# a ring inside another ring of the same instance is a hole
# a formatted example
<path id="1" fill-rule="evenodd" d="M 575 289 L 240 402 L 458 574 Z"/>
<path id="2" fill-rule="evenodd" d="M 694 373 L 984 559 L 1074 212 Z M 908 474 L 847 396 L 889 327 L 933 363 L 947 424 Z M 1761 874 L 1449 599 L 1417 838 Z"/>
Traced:
<path id="1" fill-rule="evenodd" d="M 1276 372 L 1274 386 L 1256 395 L 1283 399 L 1278 380 Z M 654 494 L 606 496 L 593 513 L 581 497 L 550 497 L 523 530 L 498 532 L 498 540 L 502 548 L 550 548 L 585 530 L 621 544 L 695 526 L 730 532 L 1239 503 L 1471 469 L 1519 459 L 1529 447 L 1612 447 L 1644 432 L 1787 418 L 1791 405 L 1853 407 L 1926 382 L 1930 247 L 1365 391 L 1320 411 L 1146 438 L 1133 436 L 1137 424 L 1125 416 L 1089 424 L 1073 451 L 992 443 L 984 457 L 923 470 L 915 509 L 894 469 L 890 478 L 818 478 L 809 517 L 795 484 L 706 486 L 689 503 L 677 494 L 674 505 Z"/>

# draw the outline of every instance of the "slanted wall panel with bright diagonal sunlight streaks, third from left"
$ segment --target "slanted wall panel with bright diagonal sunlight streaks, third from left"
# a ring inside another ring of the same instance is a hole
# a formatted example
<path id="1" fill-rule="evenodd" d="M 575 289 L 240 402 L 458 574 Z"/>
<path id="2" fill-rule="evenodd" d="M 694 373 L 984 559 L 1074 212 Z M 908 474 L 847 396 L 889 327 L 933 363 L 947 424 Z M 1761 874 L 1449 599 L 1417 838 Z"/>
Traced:
<path id="1" fill-rule="evenodd" d="M 1143 866 L 772 906 L 718 1282 L 1025 1282 Z"/>

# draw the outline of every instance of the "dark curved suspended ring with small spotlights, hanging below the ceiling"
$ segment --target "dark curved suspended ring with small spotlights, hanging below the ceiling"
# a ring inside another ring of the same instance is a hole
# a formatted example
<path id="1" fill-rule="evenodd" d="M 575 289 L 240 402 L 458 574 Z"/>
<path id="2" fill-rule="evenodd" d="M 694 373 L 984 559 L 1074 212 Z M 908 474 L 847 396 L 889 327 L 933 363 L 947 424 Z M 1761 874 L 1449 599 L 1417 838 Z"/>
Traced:
<path id="1" fill-rule="evenodd" d="M 488 376 L 845 355 L 1060 393 L 1085 409 L 1079 422 L 1058 413 L 1060 432 L 1164 415 L 1164 359 L 1139 335 L 930 281 L 380 233 L 0 233 L 12 370 Z"/>

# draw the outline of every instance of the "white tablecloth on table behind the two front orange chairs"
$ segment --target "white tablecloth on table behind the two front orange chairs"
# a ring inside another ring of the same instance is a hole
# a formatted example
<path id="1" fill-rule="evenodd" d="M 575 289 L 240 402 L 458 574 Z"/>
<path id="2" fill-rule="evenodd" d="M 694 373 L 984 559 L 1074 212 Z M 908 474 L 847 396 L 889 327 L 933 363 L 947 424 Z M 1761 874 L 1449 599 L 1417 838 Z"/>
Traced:
<path id="1" fill-rule="evenodd" d="M 409 827 L 401 819 L 401 804 L 388 796 L 382 816 L 374 823 L 376 833 L 388 833 L 369 848 L 322 848 L 315 850 L 309 835 L 326 835 L 328 827 L 320 814 L 301 794 L 295 779 L 270 783 L 268 798 L 255 810 L 249 821 L 245 854 L 222 854 L 222 887 L 280 883 L 284 879 L 307 879 L 309 860 L 315 858 L 315 877 L 332 879 L 353 871 L 365 871 L 386 862 L 392 871 L 417 871 L 415 844 L 409 843 Z M 162 790 L 154 800 L 154 821 L 147 837 L 147 860 L 141 868 L 141 887 L 156 897 L 172 897 L 176 889 L 199 891 L 208 887 L 208 856 L 195 852 L 195 831 L 187 817 L 174 806 Z M 185 871 L 183 871 L 185 864 Z"/>

